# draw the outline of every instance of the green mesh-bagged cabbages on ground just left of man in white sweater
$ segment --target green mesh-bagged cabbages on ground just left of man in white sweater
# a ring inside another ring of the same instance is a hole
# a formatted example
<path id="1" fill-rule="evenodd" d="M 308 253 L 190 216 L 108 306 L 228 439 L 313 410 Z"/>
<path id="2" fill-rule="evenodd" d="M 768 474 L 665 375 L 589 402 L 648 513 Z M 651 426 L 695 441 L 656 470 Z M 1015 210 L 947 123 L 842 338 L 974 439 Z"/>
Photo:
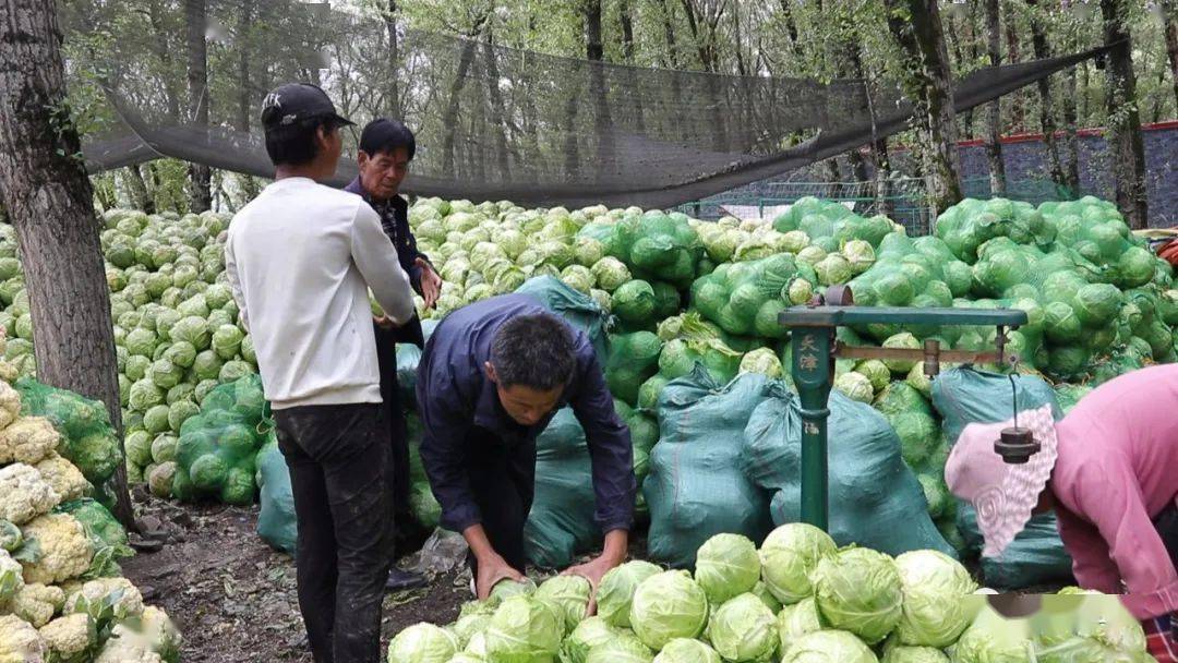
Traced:
<path id="1" fill-rule="evenodd" d="M 214 389 L 200 413 L 180 426 L 172 495 L 181 502 L 253 504 L 256 457 L 273 427 L 257 374 Z"/>

